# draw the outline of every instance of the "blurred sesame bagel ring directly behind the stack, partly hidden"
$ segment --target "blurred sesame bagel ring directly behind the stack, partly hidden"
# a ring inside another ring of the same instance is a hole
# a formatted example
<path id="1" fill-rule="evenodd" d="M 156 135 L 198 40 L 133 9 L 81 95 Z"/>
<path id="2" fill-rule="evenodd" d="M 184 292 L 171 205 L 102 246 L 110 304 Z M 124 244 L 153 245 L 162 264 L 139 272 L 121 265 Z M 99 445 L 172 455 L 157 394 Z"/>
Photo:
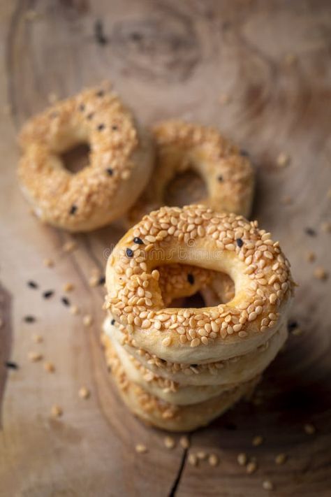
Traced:
<path id="1" fill-rule="evenodd" d="M 165 189 L 177 173 L 189 169 L 203 178 L 207 198 L 200 201 L 214 210 L 251 212 L 254 174 L 247 154 L 210 127 L 171 120 L 152 130 L 156 164 L 149 184 L 128 213 L 132 226 L 143 215 L 165 205 Z"/>

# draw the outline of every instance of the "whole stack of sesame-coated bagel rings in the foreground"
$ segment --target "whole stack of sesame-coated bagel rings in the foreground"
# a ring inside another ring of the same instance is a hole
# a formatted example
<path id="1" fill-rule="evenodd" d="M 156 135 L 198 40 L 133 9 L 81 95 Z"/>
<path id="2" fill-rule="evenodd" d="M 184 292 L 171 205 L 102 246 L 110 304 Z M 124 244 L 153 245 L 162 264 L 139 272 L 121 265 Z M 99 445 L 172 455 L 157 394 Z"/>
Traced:
<path id="1" fill-rule="evenodd" d="M 115 383 L 135 415 L 169 431 L 204 426 L 249 396 L 287 338 L 288 261 L 241 216 L 204 206 L 145 216 L 112 252 L 106 284 Z M 180 307 L 197 291 L 206 307 Z"/>

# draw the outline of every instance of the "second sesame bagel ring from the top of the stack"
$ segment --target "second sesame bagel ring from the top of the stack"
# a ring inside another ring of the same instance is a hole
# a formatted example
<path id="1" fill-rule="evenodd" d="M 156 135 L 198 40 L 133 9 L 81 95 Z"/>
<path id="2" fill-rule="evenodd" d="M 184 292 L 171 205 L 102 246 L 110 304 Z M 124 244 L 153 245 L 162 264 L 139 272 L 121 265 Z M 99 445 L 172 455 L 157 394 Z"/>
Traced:
<path id="1" fill-rule="evenodd" d="M 283 324 L 269 340 L 247 354 L 212 363 L 173 363 L 164 361 L 145 350 L 137 349 L 132 343 L 128 343 L 118 326 L 111 323 L 110 317 L 105 319 L 103 333 L 112 340 L 115 347 L 117 344 L 123 347 L 128 354 L 140 362 L 142 367 L 157 377 L 194 387 L 214 385 L 228 389 L 233 384 L 251 380 L 263 373 L 288 337 L 287 325 Z"/>

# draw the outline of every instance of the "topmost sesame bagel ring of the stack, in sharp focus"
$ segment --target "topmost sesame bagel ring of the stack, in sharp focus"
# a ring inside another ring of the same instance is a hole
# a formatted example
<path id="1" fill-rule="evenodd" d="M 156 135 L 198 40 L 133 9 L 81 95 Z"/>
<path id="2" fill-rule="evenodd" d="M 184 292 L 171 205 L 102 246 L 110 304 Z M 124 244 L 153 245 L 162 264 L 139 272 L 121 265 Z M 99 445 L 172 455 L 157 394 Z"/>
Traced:
<path id="1" fill-rule="evenodd" d="M 164 308 L 160 264 L 226 273 L 228 303 Z M 235 214 L 206 206 L 163 207 L 119 241 L 106 268 L 106 308 L 136 347 L 177 363 L 230 359 L 256 350 L 286 322 L 293 295 L 289 263 L 270 233 Z"/>

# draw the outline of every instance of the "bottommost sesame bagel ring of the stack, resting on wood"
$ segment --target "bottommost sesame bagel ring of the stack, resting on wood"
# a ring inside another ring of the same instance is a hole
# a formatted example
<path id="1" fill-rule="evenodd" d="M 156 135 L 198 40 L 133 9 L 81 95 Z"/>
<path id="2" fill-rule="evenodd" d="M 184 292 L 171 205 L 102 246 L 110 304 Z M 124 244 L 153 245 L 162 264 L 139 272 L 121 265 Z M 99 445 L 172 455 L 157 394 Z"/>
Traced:
<path id="1" fill-rule="evenodd" d="M 130 382 L 110 341 L 106 345 L 108 365 L 119 394 L 127 407 L 143 422 L 167 431 L 192 431 L 209 424 L 223 412 L 233 407 L 242 397 L 253 393 L 260 377 L 240 384 L 233 390 L 195 405 L 178 406 L 162 401 L 149 394 L 138 384 Z"/>

